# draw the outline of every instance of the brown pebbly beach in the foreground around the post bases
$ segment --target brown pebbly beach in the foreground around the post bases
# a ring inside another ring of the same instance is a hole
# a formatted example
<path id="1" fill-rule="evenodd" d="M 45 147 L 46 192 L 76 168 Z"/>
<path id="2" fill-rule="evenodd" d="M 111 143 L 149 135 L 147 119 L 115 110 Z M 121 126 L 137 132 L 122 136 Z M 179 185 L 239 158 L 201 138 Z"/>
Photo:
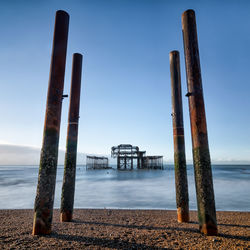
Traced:
<path id="1" fill-rule="evenodd" d="M 197 212 L 180 224 L 176 211 L 76 209 L 51 235 L 32 236 L 32 210 L 0 210 L 0 249 L 250 249 L 250 212 L 217 212 L 218 236 L 198 230 Z"/>

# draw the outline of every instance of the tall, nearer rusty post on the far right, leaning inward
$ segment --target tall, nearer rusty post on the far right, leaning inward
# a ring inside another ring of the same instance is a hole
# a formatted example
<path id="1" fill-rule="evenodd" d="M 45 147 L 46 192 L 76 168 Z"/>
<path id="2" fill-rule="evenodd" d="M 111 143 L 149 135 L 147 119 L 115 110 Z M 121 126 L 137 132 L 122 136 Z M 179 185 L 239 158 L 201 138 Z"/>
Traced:
<path id="1" fill-rule="evenodd" d="M 217 235 L 213 178 L 208 147 L 196 20 L 193 10 L 187 10 L 182 14 L 182 32 L 200 231 L 207 235 Z"/>

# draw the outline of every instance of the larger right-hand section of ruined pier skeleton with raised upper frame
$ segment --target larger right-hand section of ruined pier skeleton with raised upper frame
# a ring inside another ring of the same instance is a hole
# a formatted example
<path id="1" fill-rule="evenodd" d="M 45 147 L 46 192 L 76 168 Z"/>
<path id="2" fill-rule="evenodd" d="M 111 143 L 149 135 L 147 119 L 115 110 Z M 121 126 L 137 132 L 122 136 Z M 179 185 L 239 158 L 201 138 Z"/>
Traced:
<path id="1" fill-rule="evenodd" d="M 117 169 L 134 168 L 133 160 L 137 160 L 137 169 L 163 169 L 163 156 L 145 156 L 138 146 L 120 144 L 111 148 L 111 157 L 117 158 Z"/>

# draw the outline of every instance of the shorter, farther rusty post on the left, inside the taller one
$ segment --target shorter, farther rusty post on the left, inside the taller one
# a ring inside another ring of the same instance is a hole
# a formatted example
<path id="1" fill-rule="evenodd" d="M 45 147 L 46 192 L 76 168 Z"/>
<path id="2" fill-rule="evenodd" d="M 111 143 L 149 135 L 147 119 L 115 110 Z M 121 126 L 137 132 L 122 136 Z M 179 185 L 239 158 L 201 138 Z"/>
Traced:
<path id="1" fill-rule="evenodd" d="M 82 55 L 75 53 L 72 65 L 67 145 L 61 197 L 60 220 L 62 222 L 71 221 L 73 216 L 81 76 Z"/>

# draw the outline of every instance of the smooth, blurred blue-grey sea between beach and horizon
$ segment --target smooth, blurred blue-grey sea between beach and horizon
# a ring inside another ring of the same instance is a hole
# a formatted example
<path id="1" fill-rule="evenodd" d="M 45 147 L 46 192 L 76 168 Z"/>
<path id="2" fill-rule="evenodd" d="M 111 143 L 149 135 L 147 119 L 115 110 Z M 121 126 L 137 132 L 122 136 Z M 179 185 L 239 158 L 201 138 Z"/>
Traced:
<path id="1" fill-rule="evenodd" d="M 190 209 L 196 210 L 193 166 L 188 166 Z M 58 166 L 54 207 L 60 206 Z M 0 209 L 33 208 L 38 166 L 0 166 Z M 250 166 L 213 165 L 217 210 L 250 211 Z M 87 170 L 77 166 L 76 208 L 175 209 L 173 166 L 165 170 Z"/>

